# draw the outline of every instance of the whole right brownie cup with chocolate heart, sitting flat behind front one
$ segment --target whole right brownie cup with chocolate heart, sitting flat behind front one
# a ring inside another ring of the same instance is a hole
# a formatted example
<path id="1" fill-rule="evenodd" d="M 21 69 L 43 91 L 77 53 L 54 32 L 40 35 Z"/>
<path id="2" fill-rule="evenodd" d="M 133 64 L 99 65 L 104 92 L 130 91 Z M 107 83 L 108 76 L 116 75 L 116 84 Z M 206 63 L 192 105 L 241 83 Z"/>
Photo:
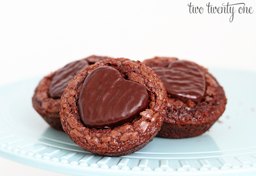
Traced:
<path id="1" fill-rule="evenodd" d="M 167 114 L 157 136 L 190 138 L 206 132 L 223 114 L 223 88 L 204 67 L 177 58 L 143 61 L 163 81 L 168 95 Z"/>

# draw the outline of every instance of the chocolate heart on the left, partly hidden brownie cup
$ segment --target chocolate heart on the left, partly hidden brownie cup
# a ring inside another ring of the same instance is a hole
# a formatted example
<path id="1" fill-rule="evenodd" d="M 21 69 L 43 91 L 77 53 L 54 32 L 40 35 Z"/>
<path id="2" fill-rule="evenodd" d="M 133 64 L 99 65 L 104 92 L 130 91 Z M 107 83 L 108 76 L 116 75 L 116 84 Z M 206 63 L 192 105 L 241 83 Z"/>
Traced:
<path id="1" fill-rule="evenodd" d="M 52 98 L 61 98 L 62 93 L 72 80 L 82 69 L 89 64 L 87 60 L 78 60 L 67 64 L 65 67 L 56 71 L 49 87 L 50 96 Z"/>

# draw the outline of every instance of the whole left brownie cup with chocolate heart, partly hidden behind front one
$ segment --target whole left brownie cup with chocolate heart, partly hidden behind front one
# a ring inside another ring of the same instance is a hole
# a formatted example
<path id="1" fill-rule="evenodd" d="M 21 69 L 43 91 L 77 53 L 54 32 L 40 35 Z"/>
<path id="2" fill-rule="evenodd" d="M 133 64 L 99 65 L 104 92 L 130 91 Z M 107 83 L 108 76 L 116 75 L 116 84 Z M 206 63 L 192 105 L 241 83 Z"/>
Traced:
<path id="1" fill-rule="evenodd" d="M 89 56 L 85 59 L 71 62 L 58 71 L 45 76 L 35 89 L 32 98 L 34 109 L 51 127 L 63 130 L 59 118 L 59 104 L 64 89 L 79 71 L 107 58 L 104 56 Z"/>

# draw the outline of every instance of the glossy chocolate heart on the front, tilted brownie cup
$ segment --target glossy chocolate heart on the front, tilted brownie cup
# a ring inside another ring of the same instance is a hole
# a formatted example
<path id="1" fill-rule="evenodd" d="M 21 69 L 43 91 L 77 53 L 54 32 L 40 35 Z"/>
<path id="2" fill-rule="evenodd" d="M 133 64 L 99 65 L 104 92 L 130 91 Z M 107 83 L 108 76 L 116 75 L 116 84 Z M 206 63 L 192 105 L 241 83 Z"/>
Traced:
<path id="1" fill-rule="evenodd" d="M 91 128 L 113 128 L 132 122 L 147 109 L 147 89 L 112 67 L 93 70 L 83 82 L 78 99 L 80 119 Z"/>

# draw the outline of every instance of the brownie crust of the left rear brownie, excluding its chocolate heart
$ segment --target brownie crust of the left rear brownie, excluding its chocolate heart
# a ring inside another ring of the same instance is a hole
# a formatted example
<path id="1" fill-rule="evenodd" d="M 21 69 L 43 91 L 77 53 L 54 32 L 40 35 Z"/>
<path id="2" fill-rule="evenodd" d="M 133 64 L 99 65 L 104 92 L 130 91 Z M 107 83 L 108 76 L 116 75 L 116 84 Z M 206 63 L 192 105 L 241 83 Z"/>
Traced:
<path id="1" fill-rule="evenodd" d="M 105 60 L 108 57 L 104 56 L 89 56 L 83 60 L 87 60 L 89 64 L 98 62 L 99 60 Z M 32 98 L 34 109 L 43 117 L 43 119 L 54 129 L 63 130 L 59 119 L 59 104 L 60 98 L 52 98 L 50 96 L 49 87 L 52 82 L 52 78 L 56 72 L 45 76 L 37 88 Z"/>

